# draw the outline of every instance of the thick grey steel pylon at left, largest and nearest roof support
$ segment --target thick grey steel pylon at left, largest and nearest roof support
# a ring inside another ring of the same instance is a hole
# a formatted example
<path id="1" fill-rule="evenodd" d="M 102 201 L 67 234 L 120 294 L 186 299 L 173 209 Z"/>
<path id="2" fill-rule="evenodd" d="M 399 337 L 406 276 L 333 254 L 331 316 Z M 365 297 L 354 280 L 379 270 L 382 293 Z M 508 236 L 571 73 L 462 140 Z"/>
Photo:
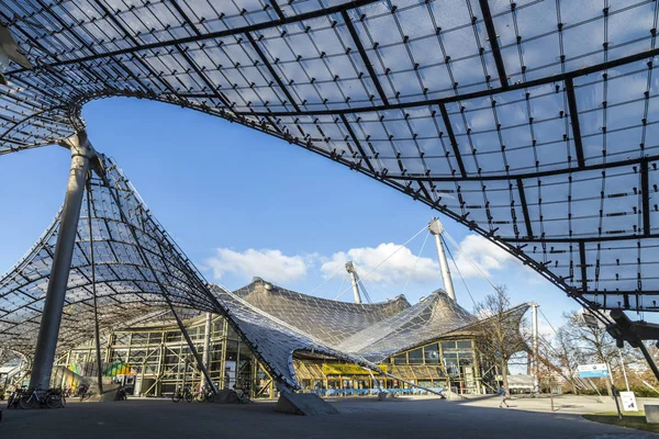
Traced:
<path id="1" fill-rule="evenodd" d="M 30 378 L 30 389 L 36 390 L 46 390 L 51 386 L 51 373 L 59 336 L 59 324 L 76 244 L 80 207 L 90 161 L 96 155 L 87 138 L 87 133 L 83 131 L 76 133 L 62 145 L 71 151 L 71 168 Z"/>

